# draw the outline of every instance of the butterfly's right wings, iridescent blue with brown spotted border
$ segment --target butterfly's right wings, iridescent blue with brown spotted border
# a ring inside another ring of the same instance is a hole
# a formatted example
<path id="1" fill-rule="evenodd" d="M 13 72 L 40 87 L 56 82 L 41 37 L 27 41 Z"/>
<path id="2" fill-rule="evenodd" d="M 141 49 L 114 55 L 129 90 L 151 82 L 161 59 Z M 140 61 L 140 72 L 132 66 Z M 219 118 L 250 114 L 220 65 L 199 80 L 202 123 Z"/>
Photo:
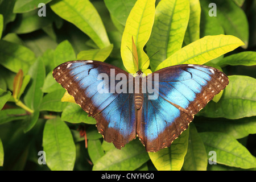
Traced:
<path id="1" fill-rule="evenodd" d="M 193 117 L 228 85 L 228 77 L 218 69 L 204 65 L 176 65 L 147 76 L 159 75 L 159 97 L 148 99 L 138 111 L 137 134 L 148 152 L 171 145 L 187 129 Z"/>

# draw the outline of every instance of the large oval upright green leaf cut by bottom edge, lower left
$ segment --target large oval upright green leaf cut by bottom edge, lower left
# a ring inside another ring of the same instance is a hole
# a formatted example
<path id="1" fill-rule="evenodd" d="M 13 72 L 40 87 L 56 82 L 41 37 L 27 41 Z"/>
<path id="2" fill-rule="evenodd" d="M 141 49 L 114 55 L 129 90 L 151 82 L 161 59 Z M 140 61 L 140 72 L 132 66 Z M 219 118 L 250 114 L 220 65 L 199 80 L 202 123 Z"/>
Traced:
<path id="1" fill-rule="evenodd" d="M 52 171 L 74 168 L 75 143 L 68 126 L 59 117 L 49 119 L 44 126 L 43 150 L 46 152 L 47 166 Z"/>

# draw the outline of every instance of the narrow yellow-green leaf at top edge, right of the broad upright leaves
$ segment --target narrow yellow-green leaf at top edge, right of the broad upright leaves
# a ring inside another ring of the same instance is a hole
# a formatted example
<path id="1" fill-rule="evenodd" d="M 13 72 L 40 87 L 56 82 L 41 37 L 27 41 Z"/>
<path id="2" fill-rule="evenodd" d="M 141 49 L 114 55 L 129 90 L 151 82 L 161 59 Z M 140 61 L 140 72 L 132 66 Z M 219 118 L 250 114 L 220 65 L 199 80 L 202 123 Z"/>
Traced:
<path id="1" fill-rule="evenodd" d="M 189 0 L 190 15 L 188 28 L 185 32 L 184 42 L 190 44 L 200 38 L 200 15 L 201 7 L 199 0 Z"/>

